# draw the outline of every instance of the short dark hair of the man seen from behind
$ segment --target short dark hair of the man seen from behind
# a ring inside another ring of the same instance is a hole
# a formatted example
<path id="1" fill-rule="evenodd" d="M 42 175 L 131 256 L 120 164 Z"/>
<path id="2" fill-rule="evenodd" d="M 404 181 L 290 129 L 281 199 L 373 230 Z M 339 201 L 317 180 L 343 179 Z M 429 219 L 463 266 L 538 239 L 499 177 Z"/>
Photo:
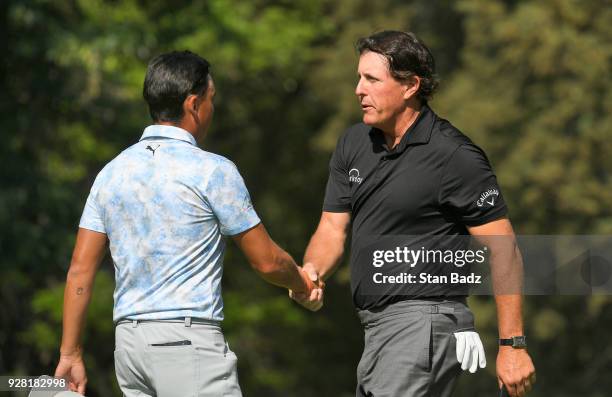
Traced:
<path id="1" fill-rule="evenodd" d="M 172 51 L 149 62 L 142 96 L 154 122 L 179 122 L 188 95 L 202 95 L 208 88 L 210 64 L 190 51 Z"/>

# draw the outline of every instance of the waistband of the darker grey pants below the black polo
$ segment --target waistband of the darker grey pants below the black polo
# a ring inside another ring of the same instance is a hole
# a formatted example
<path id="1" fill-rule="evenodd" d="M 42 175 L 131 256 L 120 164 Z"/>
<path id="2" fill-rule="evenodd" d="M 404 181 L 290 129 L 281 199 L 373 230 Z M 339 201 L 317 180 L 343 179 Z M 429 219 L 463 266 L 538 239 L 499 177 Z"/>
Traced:
<path id="1" fill-rule="evenodd" d="M 373 310 L 358 310 L 357 316 L 359 316 L 361 325 L 367 325 L 381 318 L 402 313 L 422 312 L 427 314 L 452 314 L 455 311 L 466 309 L 467 300 L 464 297 L 411 299 L 391 303 L 383 308 Z"/>

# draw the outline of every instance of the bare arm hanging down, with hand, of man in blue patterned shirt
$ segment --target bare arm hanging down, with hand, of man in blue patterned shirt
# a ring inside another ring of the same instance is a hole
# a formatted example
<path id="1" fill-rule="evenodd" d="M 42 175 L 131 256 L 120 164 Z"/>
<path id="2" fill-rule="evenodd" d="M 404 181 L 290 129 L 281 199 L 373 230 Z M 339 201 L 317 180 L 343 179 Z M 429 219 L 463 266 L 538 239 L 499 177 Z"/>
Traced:
<path id="1" fill-rule="evenodd" d="M 80 228 L 66 277 L 62 344 L 55 376 L 68 377 L 70 388 L 81 394 L 87 384 L 81 332 L 96 271 L 106 252 L 106 240 L 106 234 Z"/>

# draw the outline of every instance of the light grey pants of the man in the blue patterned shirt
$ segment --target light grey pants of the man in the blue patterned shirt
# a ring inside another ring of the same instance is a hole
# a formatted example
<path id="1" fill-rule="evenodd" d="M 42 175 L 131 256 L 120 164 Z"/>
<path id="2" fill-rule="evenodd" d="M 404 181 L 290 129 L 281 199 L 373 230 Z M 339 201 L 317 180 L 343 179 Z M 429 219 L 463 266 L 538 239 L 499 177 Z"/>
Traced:
<path id="1" fill-rule="evenodd" d="M 241 397 L 236 361 L 216 322 L 120 321 L 115 329 L 115 372 L 127 397 Z"/>

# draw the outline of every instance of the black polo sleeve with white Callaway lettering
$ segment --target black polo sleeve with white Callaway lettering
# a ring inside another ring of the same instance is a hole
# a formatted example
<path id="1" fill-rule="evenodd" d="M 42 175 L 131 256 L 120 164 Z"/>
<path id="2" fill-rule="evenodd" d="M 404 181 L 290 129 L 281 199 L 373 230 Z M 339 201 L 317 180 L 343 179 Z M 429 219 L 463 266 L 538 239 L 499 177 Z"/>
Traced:
<path id="1" fill-rule="evenodd" d="M 455 219 L 468 226 L 483 225 L 508 212 L 487 156 L 473 144 L 461 145 L 449 159 L 439 200 Z"/>

